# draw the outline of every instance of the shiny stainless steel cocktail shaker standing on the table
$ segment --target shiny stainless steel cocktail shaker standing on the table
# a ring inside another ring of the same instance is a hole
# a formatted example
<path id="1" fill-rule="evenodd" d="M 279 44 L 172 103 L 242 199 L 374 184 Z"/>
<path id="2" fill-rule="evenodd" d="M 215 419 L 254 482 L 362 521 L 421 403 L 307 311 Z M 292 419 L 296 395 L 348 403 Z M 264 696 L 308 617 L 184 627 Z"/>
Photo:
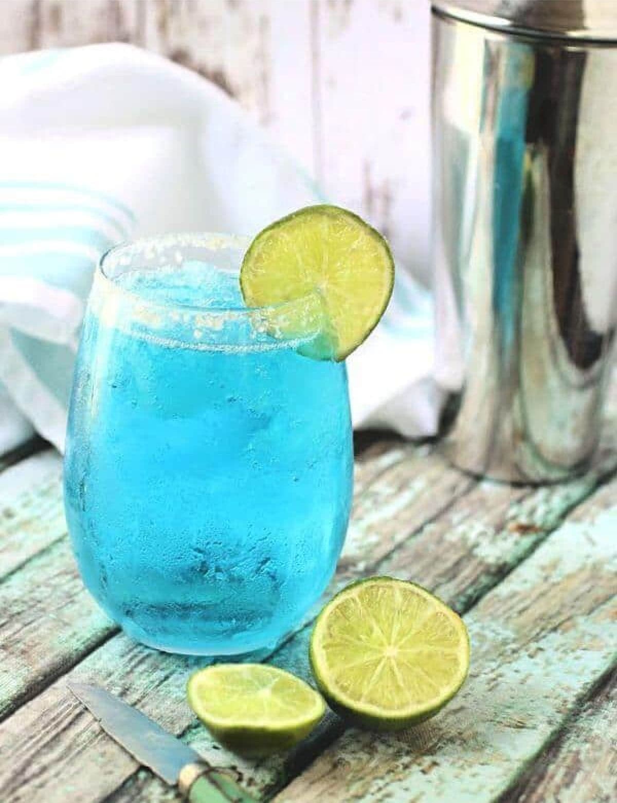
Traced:
<path id="1" fill-rule="evenodd" d="M 581 471 L 617 320 L 617 0 L 433 0 L 443 448 L 513 482 Z"/>

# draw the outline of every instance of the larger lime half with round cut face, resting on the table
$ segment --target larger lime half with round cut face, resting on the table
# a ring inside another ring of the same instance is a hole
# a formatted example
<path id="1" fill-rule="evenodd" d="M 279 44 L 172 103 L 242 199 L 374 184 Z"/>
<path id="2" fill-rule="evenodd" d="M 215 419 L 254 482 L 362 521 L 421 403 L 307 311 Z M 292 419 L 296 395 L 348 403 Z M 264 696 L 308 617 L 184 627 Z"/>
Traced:
<path id="1" fill-rule="evenodd" d="M 456 695 L 468 673 L 469 638 L 462 619 L 426 589 L 370 577 L 325 605 L 310 657 L 335 711 L 361 727 L 398 730 Z"/>

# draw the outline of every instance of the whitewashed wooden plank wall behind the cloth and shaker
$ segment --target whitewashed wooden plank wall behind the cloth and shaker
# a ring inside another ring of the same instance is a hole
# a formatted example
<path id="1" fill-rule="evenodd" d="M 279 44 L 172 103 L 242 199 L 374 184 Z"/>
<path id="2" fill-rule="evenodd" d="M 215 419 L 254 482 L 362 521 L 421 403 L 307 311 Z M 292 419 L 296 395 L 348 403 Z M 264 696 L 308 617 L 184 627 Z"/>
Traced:
<path id="1" fill-rule="evenodd" d="M 2 0 L 0 54 L 124 41 L 215 81 L 427 279 L 425 0 Z"/>

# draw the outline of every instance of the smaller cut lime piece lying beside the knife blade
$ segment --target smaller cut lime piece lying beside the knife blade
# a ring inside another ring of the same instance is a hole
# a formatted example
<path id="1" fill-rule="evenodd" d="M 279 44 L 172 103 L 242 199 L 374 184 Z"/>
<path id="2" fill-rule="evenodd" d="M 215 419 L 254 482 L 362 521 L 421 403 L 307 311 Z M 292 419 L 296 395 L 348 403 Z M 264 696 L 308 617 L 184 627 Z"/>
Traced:
<path id="1" fill-rule="evenodd" d="M 275 666 L 208 666 L 186 685 L 189 705 L 232 750 L 260 756 L 292 747 L 315 728 L 325 703 L 304 680 Z"/>

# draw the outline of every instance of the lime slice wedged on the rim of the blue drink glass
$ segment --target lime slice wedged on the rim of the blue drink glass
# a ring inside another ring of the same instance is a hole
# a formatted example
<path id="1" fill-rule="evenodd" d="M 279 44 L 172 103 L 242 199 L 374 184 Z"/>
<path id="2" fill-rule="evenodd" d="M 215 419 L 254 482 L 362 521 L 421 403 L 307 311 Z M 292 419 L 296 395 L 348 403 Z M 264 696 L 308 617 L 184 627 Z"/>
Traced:
<path id="1" fill-rule="evenodd" d="M 266 307 L 318 290 L 333 353 L 344 360 L 386 309 L 394 260 L 386 240 L 338 206 L 307 206 L 257 234 L 244 255 L 240 287 L 249 307 Z"/>

